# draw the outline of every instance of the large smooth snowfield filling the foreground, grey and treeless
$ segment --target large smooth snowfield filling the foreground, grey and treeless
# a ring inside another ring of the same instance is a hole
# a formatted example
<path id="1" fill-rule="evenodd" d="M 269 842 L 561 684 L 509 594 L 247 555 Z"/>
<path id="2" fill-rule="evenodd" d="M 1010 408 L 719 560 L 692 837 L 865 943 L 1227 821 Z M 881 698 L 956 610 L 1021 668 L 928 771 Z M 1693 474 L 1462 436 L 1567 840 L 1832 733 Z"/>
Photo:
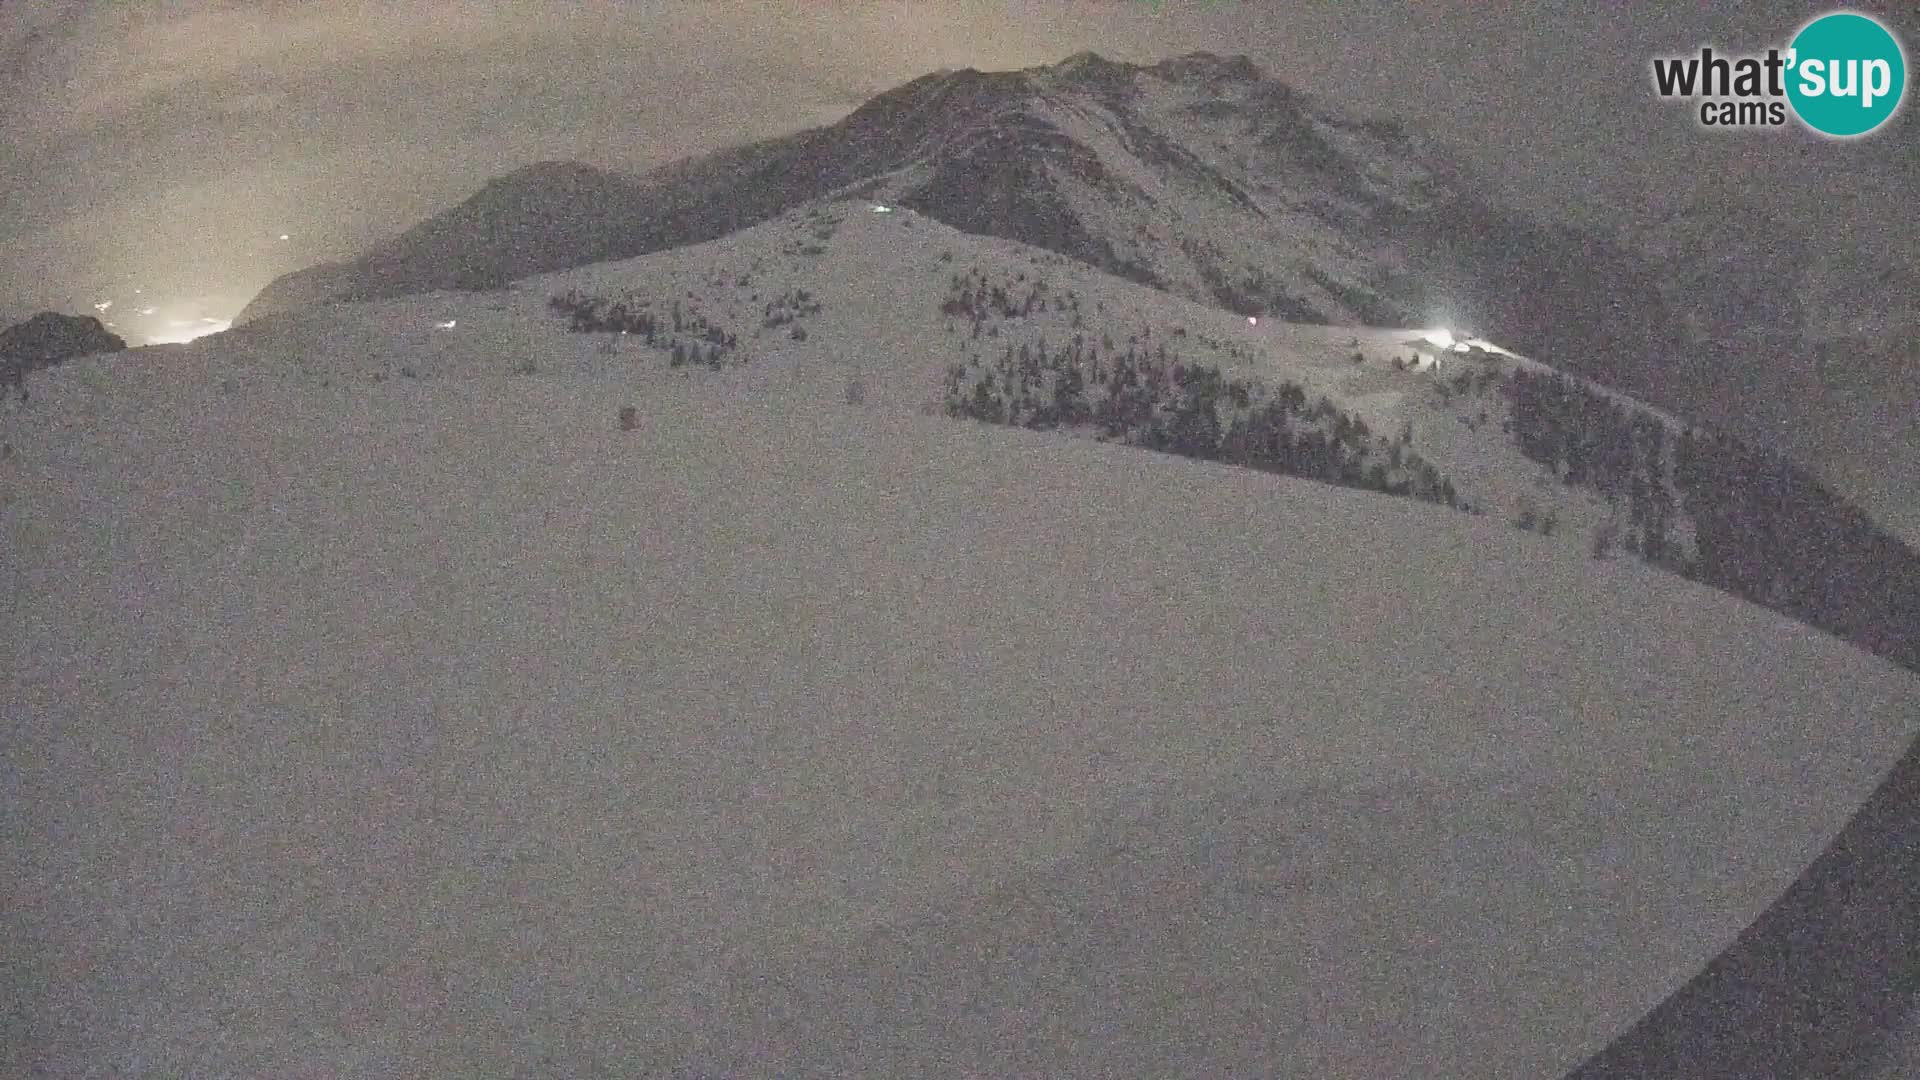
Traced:
<path id="1" fill-rule="evenodd" d="M 6 1070 L 1549 1076 L 1914 734 L 1500 521 L 714 386 L 46 373 Z"/>

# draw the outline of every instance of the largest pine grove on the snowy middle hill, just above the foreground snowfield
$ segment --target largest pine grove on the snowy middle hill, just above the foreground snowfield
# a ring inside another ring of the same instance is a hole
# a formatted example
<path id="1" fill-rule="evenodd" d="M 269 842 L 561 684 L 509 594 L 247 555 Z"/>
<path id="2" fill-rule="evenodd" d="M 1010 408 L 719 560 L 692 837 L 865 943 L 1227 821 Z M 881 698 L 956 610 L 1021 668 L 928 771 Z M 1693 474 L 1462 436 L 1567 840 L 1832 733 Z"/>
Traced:
<path id="1" fill-rule="evenodd" d="M 1098 438 L 1417 498 L 1467 509 L 1453 482 L 1411 452 L 1411 432 L 1377 438 L 1327 398 L 1281 382 L 1225 379 L 1165 344 L 1102 354 L 1079 334 L 1058 350 L 1008 346 L 996 361 L 947 371 L 947 413 L 1027 429 L 1092 429 Z"/>

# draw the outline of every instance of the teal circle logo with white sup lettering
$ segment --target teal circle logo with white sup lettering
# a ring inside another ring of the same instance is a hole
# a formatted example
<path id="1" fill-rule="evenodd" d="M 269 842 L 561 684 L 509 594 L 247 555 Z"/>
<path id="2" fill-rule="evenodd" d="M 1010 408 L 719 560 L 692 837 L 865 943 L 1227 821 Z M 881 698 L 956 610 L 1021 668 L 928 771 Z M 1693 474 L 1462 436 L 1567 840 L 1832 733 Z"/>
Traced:
<path id="1" fill-rule="evenodd" d="M 1834 12 L 1793 37 L 1788 102 L 1820 135 L 1866 135 L 1893 119 L 1905 98 L 1907 52 L 1878 19 Z"/>

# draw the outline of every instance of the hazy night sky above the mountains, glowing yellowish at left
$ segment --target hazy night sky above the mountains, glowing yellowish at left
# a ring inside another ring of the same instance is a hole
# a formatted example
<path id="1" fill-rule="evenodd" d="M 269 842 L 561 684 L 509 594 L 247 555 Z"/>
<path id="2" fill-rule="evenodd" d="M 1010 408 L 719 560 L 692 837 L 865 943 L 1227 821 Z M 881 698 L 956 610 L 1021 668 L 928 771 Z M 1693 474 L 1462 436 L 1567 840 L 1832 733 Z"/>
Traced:
<path id="1" fill-rule="evenodd" d="M 1799 127 L 1701 131 L 1649 90 L 1653 54 L 1784 44 L 1822 8 L 1617 8 L 4 0 L 0 315 L 113 298 L 138 342 L 138 306 L 154 319 L 232 315 L 271 277 L 357 254 L 530 161 L 637 169 L 833 121 L 937 67 L 1083 48 L 1244 52 L 1300 88 L 1459 142 L 1546 209 L 1724 188 L 1837 236 L 1866 227 L 1845 242 L 1914 248 L 1912 108 L 1837 144 Z M 1920 40 L 1910 12 L 1882 13 Z"/>

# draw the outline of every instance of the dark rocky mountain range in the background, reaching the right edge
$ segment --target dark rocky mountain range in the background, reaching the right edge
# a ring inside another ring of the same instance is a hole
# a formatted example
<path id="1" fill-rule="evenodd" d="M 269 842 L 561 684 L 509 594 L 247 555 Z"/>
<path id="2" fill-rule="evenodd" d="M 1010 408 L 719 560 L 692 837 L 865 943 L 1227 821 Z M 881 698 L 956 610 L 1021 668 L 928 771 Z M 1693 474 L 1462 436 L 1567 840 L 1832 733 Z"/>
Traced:
<path id="1" fill-rule="evenodd" d="M 874 198 L 1240 315 L 1469 323 L 1642 402 L 1764 432 L 1916 536 L 1899 482 L 1901 461 L 1920 461 L 1903 442 L 1912 394 L 1897 392 L 1916 369 L 1899 363 L 1914 327 L 1905 279 L 1851 246 L 1734 225 L 1740 208 L 1599 234 L 1488 190 L 1409 129 L 1244 58 L 1081 54 L 939 71 L 839 123 L 641 177 L 528 165 L 359 259 L 275 281 L 240 321 L 492 288 L 714 240 L 820 198 Z M 1782 290 L 1782 273 L 1801 288 Z"/>

